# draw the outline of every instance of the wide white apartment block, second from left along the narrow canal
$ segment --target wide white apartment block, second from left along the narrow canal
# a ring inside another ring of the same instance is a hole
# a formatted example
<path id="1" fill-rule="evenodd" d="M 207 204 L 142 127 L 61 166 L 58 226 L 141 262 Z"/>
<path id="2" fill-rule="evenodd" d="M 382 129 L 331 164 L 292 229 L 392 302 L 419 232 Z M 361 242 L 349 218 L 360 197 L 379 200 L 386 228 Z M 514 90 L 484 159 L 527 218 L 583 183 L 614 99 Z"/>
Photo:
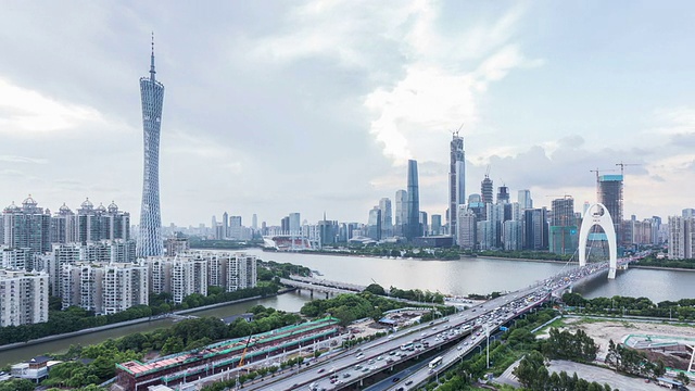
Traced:
<path id="1" fill-rule="evenodd" d="M 77 305 L 98 315 L 147 305 L 148 266 L 143 263 L 77 262 L 61 267 L 63 310 Z"/>

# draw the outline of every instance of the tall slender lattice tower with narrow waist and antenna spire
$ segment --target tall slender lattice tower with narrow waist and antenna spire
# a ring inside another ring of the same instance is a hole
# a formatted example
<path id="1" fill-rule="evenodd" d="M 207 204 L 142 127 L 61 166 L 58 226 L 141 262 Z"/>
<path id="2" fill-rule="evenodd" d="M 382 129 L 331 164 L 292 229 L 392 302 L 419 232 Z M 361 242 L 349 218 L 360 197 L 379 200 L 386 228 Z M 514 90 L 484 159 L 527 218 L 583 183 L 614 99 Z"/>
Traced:
<path id="1" fill-rule="evenodd" d="M 140 78 L 144 164 L 138 256 L 159 256 L 164 251 L 162 215 L 160 212 L 160 127 L 162 126 L 164 85 L 154 78 L 155 73 L 154 38 L 152 38 L 150 77 Z"/>

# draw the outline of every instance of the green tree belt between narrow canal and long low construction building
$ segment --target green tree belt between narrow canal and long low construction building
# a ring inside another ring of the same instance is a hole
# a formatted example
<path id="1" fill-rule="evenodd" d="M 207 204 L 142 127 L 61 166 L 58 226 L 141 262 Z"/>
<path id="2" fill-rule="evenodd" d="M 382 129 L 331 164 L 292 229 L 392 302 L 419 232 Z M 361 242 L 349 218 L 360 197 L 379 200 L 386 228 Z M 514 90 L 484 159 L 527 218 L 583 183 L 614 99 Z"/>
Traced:
<path id="1" fill-rule="evenodd" d="M 243 338 L 302 321 L 298 315 L 262 305 L 252 307 L 250 312 L 254 314 L 251 323 L 238 318 L 227 326 L 215 317 L 185 319 L 169 328 L 151 332 L 136 332 L 85 348 L 72 345 L 67 353 L 55 355 L 55 358 L 65 363 L 51 368 L 50 377 L 41 384 L 70 389 L 98 384 L 115 376 L 116 363 L 141 361 L 144 354 L 153 351 L 166 355 L 198 350 L 215 341 Z M 83 364 L 78 358 L 93 361 Z"/>

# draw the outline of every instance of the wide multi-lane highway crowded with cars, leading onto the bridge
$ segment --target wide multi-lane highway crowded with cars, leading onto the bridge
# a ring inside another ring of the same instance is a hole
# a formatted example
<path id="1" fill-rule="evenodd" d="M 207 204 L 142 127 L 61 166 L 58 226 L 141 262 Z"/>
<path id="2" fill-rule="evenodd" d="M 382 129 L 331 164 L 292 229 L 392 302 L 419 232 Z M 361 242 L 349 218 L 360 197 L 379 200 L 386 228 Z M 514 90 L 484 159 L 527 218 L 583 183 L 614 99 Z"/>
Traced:
<path id="1" fill-rule="evenodd" d="M 247 390 L 340 390 L 350 384 L 359 383 L 375 374 L 390 369 L 400 363 L 417 358 L 433 350 L 441 350 L 435 356 L 442 356 L 437 368 L 422 366 L 409 368 L 389 390 L 408 390 L 427 382 L 432 376 L 460 361 L 477 349 L 485 339 L 485 330 L 493 333 L 501 325 L 531 311 L 531 308 L 551 299 L 552 293 L 560 292 L 568 286 L 593 274 L 605 270 L 607 263 L 590 264 L 582 268 L 572 268 L 552 278 L 539 281 L 522 290 L 510 292 L 483 304 L 469 307 L 455 315 L 417 325 L 388 338 L 363 343 L 334 355 L 325 362 L 302 366 L 301 369 L 255 384 L 244 384 Z M 442 349 L 443 345 L 455 344 Z M 402 345 L 413 343 L 413 346 Z M 482 350 L 482 349 L 481 349 Z M 394 378 L 395 376 L 391 376 Z M 382 388 L 380 388 L 382 389 Z"/>

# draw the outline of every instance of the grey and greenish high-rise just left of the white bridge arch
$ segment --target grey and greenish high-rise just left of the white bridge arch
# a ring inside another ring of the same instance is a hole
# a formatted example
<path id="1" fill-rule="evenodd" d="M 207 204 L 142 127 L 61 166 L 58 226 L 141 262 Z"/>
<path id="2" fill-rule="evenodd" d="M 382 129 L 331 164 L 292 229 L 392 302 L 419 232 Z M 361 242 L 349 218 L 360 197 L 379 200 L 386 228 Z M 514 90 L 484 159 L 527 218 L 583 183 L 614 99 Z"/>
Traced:
<path id="1" fill-rule="evenodd" d="M 574 218 L 574 199 L 565 195 L 552 202 L 553 216 L 549 227 L 549 251 L 555 254 L 573 254 L 579 245 L 579 229 Z"/>

